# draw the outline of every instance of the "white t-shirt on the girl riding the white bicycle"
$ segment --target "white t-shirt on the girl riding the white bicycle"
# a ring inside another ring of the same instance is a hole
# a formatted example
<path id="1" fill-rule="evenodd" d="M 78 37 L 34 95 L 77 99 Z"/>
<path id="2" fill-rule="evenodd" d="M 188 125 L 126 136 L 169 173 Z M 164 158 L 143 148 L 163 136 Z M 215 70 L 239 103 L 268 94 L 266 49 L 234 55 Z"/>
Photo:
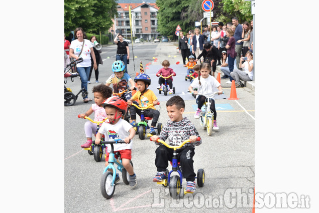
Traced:
<path id="1" fill-rule="evenodd" d="M 216 87 L 218 88 L 221 84 L 216 80 L 216 78 L 209 75 L 207 78 L 200 77 L 200 85 L 198 81 L 198 77 L 193 80 L 193 82 L 190 84 L 190 86 L 193 89 L 198 89 L 197 91 L 199 93 L 204 94 L 211 94 L 213 93 L 212 88 Z M 212 98 L 215 100 L 215 96 L 211 95 L 209 98 Z"/>

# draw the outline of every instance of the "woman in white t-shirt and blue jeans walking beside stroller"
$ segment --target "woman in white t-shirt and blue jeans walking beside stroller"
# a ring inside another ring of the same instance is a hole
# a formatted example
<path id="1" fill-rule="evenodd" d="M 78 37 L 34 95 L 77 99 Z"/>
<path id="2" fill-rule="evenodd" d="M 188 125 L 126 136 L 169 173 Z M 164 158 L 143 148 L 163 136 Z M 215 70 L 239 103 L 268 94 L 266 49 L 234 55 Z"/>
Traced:
<path id="1" fill-rule="evenodd" d="M 81 63 L 78 63 L 76 65 L 76 70 L 79 73 L 82 82 L 81 88 L 85 88 L 87 91 L 87 79 L 90 74 L 91 56 L 93 59 L 93 68 L 94 70 L 97 69 L 93 46 L 89 40 L 83 38 L 84 31 L 82 28 L 76 28 L 74 34 L 76 40 L 71 42 L 70 56 L 76 60 L 78 58 L 83 59 Z M 85 97 L 83 97 L 83 102 L 87 103 L 89 101 L 92 101 L 92 99 L 88 98 L 87 95 L 85 95 Z"/>

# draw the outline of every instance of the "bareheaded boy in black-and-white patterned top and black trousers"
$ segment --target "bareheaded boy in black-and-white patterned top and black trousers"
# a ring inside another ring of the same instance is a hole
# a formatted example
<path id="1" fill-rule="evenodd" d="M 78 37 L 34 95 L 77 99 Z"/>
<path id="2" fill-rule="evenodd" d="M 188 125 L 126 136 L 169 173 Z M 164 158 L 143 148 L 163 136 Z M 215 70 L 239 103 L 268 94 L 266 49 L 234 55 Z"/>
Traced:
<path id="1" fill-rule="evenodd" d="M 168 138 L 168 145 L 178 146 L 183 141 L 189 139 L 190 142 L 186 143 L 180 149 L 177 149 L 177 160 L 182 167 L 183 177 L 187 181 L 186 191 L 194 192 L 195 187 L 195 172 L 193 167 L 193 156 L 195 154 L 195 145 L 201 144 L 201 139 L 197 141 L 199 134 L 195 126 L 187 119 L 183 118 L 183 112 L 185 109 L 184 100 L 176 95 L 171 97 L 166 103 L 166 109 L 169 117 L 169 121 L 162 128 L 160 136 L 153 135 L 151 140 L 157 139 L 165 141 Z M 156 144 L 158 144 L 156 142 Z M 166 147 L 163 144 L 159 144 L 156 151 L 155 165 L 157 167 L 157 174 L 153 178 L 153 182 L 161 182 L 166 179 L 166 168 L 168 161 L 172 161 L 173 149 Z"/>

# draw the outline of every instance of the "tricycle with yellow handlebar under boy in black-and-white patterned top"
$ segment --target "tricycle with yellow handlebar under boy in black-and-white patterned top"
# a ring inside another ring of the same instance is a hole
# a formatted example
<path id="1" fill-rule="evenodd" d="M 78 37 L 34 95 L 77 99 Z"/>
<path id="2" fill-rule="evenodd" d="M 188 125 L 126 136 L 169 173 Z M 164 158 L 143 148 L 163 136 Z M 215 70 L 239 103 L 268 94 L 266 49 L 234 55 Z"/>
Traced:
<path id="1" fill-rule="evenodd" d="M 150 138 L 150 140 L 152 140 L 152 138 Z M 197 140 L 200 140 L 200 137 L 197 137 Z M 162 184 L 163 186 L 167 186 L 169 187 L 169 194 L 171 195 L 171 197 L 173 198 L 178 198 L 181 194 L 181 188 L 182 188 L 182 181 L 183 181 L 183 175 L 182 175 L 182 168 L 179 165 L 179 162 L 177 162 L 177 151 L 176 149 L 181 148 L 185 143 L 189 142 L 188 140 L 185 140 L 184 142 L 182 142 L 179 146 L 170 146 L 167 143 L 165 143 L 165 141 L 157 139 L 157 142 L 162 143 L 163 145 L 165 145 L 168 148 L 174 149 L 173 151 L 173 162 L 171 162 L 172 165 L 172 170 L 168 171 L 168 169 L 166 169 L 166 178 L 161 182 L 157 182 L 157 184 Z M 171 174 L 173 171 L 177 171 L 178 175 L 173 175 L 171 177 Z M 199 187 L 202 187 L 204 185 L 204 180 L 205 180 L 205 172 L 204 169 L 200 168 L 197 171 L 197 176 L 195 177 L 197 179 L 197 185 Z M 188 192 L 186 191 L 186 189 L 184 189 L 184 194 L 186 193 L 193 193 L 193 192 Z"/>

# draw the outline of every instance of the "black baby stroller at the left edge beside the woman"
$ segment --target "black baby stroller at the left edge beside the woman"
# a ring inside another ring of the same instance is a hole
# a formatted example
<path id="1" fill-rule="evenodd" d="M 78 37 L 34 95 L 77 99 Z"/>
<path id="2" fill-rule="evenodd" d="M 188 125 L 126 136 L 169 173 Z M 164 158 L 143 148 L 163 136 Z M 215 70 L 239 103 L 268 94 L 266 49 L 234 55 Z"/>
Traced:
<path id="1" fill-rule="evenodd" d="M 66 68 L 64 69 L 64 84 L 66 84 L 66 79 L 68 77 L 71 77 L 71 81 L 73 82 L 73 78 L 79 76 L 78 73 L 71 73 L 70 70 L 82 61 L 82 58 L 78 58 L 77 60 L 71 62 L 66 66 Z M 80 93 L 82 93 L 82 97 L 85 97 L 88 94 L 86 89 L 82 88 L 76 95 L 74 95 L 70 88 L 66 88 L 66 86 L 64 86 L 64 106 L 73 106 Z"/>

